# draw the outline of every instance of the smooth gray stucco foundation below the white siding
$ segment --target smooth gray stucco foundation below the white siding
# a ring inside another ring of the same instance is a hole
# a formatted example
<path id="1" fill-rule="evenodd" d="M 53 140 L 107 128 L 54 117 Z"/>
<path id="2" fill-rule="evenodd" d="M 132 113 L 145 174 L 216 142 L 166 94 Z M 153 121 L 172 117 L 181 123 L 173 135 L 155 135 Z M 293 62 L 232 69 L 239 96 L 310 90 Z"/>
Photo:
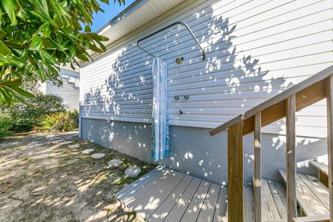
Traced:
<path id="1" fill-rule="evenodd" d="M 83 139 L 114 148 L 146 162 L 151 160 L 151 125 L 101 119 L 82 119 Z M 171 156 L 160 163 L 171 169 L 189 173 L 211 182 L 226 185 L 228 180 L 227 133 L 214 137 L 209 129 L 171 126 Z M 262 177 L 282 181 L 278 169 L 285 169 L 285 137 L 262 134 Z M 327 153 L 326 139 L 298 137 L 298 172 L 316 175 L 314 167 L 307 160 Z M 252 184 L 253 178 L 253 135 L 244 137 L 244 180 Z"/>

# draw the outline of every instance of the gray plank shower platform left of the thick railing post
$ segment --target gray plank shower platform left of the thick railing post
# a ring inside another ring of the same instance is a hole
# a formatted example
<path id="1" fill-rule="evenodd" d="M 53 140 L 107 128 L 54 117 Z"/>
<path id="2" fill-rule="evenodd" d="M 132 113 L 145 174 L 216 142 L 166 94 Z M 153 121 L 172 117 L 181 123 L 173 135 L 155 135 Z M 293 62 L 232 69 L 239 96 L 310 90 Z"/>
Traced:
<path id="1" fill-rule="evenodd" d="M 157 167 L 115 196 L 147 221 L 225 221 L 227 189 Z"/>

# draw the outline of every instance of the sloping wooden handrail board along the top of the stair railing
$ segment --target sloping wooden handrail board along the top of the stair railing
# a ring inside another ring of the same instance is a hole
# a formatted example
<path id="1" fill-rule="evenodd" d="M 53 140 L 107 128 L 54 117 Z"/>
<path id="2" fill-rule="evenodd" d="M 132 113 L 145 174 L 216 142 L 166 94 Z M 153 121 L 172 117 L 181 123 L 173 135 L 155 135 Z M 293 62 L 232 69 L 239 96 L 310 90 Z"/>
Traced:
<path id="1" fill-rule="evenodd" d="M 325 80 L 325 78 L 327 78 L 328 76 L 330 76 L 332 74 L 333 74 L 333 65 L 331 65 L 330 67 L 327 67 L 326 69 L 323 69 L 322 71 L 319 71 L 314 76 L 311 76 L 311 77 L 307 78 L 306 80 L 303 80 L 302 82 L 294 85 L 293 87 L 286 89 L 284 92 L 264 101 L 263 103 L 256 105 L 254 108 L 251 108 L 250 110 L 244 112 L 243 114 L 240 114 L 239 116 L 234 117 L 230 121 L 227 121 L 227 122 L 221 124 L 220 126 L 214 128 L 213 130 L 210 131 L 210 136 L 216 135 L 217 133 L 220 133 L 221 131 L 230 128 L 230 126 L 234 126 L 234 124 L 237 124 L 240 121 L 245 121 L 246 119 L 253 117 L 258 112 L 262 112 L 263 110 L 266 110 L 267 108 L 270 108 L 271 106 L 273 106 L 277 103 L 280 103 L 281 101 L 284 101 L 289 96 L 291 96 L 293 94 L 297 94 L 298 92 L 301 92 L 302 90 L 306 89 L 307 87 L 310 87 L 311 85 L 314 85 L 315 83 Z M 246 126 L 244 126 L 244 127 L 246 127 Z M 244 133 L 244 135 L 245 134 L 246 133 Z"/>

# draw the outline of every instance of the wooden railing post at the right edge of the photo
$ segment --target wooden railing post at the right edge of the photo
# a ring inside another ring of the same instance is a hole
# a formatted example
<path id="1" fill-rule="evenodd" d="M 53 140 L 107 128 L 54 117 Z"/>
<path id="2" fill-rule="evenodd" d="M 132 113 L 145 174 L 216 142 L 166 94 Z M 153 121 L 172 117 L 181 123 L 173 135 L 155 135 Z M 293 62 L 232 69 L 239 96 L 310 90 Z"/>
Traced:
<path id="1" fill-rule="evenodd" d="M 333 76 L 328 77 L 326 83 L 328 188 L 330 191 L 330 221 L 333 221 Z"/>

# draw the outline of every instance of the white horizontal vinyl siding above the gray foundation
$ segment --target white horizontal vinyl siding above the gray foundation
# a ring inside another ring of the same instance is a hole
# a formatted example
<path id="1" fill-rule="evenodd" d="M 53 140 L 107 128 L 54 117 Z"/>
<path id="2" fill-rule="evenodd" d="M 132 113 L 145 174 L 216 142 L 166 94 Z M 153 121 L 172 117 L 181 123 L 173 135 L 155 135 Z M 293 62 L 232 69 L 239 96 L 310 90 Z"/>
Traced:
<path id="1" fill-rule="evenodd" d="M 332 0 L 198 2 L 164 21 L 186 22 L 205 48 L 205 61 L 184 28 L 142 44 L 167 62 L 172 125 L 214 128 L 333 64 Z M 80 69 L 83 117 L 151 121 L 152 60 L 133 43 L 167 24 L 151 22 L 141 36 L 124 37 Z M 185 60 L 177 65 L 180 56 Z M 176 95 L 189 100 L 176 101 Z M 321 101 L 298 113 L 296 133 L 325 137 L 325 124 Z M 283 134 L 284 120 L 264 132 Z"/>

